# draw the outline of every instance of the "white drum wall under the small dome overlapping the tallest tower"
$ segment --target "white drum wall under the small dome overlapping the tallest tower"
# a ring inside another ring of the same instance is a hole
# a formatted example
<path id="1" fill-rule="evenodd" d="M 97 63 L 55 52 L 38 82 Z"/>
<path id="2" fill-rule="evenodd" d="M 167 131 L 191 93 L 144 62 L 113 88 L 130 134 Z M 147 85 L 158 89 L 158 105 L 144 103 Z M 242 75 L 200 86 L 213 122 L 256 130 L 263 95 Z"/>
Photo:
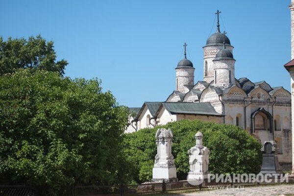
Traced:
<path id="1" fill-rule="evenodd" d="M 215 86 L 227 88 L 235 85 L 235 61 L 234 60 L 220 60 L 214 61 L 214 72 L 216 71 Z M 231 77 L 229 73 L 231 72 Z M 215 73 L 214 73 L 215 74 Z"/>

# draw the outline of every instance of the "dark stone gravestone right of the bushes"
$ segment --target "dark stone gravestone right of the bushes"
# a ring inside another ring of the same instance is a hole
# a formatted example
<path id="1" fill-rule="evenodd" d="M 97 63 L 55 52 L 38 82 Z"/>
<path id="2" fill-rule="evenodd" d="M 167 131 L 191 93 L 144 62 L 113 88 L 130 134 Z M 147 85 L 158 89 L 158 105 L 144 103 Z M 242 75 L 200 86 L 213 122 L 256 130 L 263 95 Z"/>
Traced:
<path id="1" fill-rule="evenodd" d="M 282 173 L 279 170 L 279 162 L 277 153 L 279 148 L 274 141 L 267 141 L 261 148 L 262 166 L 260 173 Z"/>

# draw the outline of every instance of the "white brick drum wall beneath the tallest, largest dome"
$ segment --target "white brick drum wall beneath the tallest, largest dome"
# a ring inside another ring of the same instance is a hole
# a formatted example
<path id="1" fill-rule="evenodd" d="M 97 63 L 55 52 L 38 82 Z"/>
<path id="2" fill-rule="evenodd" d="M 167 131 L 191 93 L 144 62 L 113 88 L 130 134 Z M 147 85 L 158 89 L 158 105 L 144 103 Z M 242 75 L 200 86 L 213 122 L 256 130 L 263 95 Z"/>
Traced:
<path id="1" fill-rule="evenodd" d="M 213 60 L 216 58 L 216 54 L 223 46 L 207 46 L 203 47 L 204 59 L 203 59 L 203 80 L 207 83 L 210 83 L 214 80 L 214 63 Z M 233 52 L 233 47 L 226 46 L 227 49 L 230 49 Z M 205 62 L 207 62 L 207 75 L 205 75 Z"/>

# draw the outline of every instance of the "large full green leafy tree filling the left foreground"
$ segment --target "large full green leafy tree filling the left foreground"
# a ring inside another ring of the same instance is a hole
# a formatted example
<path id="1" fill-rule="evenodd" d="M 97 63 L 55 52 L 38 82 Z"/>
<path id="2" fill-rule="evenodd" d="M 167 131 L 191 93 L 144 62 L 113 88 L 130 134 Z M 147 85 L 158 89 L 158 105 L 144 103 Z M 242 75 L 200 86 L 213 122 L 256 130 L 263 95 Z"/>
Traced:
<path id="1" fill-rule="evenodd" d="M 24 69 L 0 76 L 0 182 L 40 185 L 48 195 L 117 183 L 128 166 L 120 153 L 127 118 L 97 79 Z"/>

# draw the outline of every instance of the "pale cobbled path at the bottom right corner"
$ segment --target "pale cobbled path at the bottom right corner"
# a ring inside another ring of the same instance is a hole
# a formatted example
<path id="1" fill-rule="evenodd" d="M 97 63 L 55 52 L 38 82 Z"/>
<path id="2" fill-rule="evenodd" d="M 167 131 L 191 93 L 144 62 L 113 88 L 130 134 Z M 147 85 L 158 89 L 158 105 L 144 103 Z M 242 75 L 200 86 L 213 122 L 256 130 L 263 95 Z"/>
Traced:
<path id="1" fill-rule="evenodd" d="M 294 196 L 294 184 L 267 185 L 257 187 L 230 188 L 196 193 L 180 194 L 179 196 Z"/>

